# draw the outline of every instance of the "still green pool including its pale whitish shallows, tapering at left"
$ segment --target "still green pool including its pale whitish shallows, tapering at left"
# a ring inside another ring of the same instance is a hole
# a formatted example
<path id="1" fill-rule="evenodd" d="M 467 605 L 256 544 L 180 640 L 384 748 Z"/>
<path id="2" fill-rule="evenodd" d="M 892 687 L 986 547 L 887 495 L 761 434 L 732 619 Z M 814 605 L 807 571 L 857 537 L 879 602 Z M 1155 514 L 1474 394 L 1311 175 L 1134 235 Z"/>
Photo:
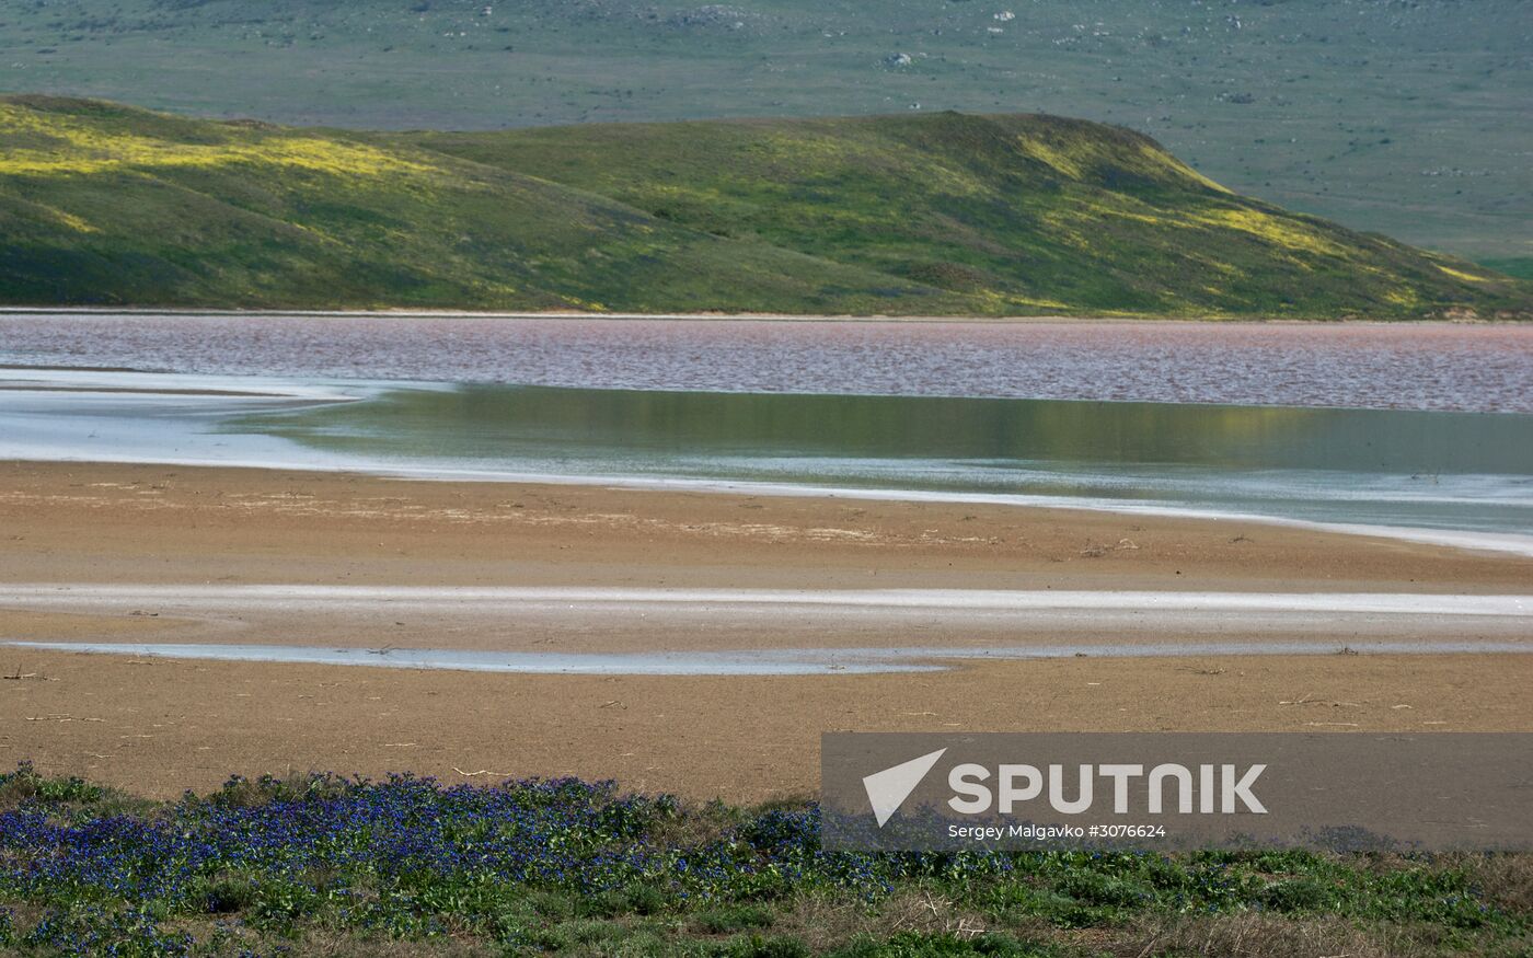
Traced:
<path id="1" fill-rule="evenodd" d="M 1084 497 L 1533 533 L 1527 415 L 477 385 L 225 429 L 396 469 Z"/>

